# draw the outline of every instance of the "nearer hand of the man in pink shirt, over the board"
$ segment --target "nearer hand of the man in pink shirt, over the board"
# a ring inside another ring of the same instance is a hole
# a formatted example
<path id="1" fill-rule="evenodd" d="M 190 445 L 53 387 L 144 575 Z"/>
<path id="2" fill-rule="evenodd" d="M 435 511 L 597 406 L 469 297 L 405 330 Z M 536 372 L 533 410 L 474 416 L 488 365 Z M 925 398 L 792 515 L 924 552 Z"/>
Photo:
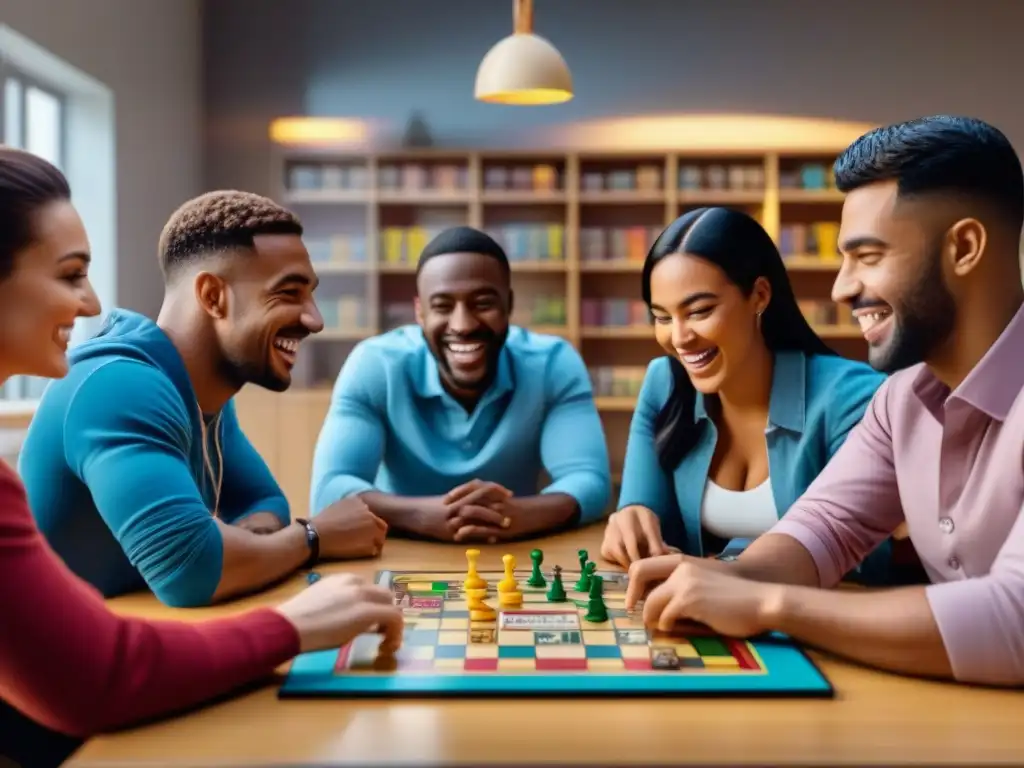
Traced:
<path id="1" fill-rule="evenodd" d="M 651 590 L 644 602 L 643 622 L 662 632 L 670 632 L 678 622 L 698 622 L 722 635 L 751 637 L 772 629 L 769 617 L 776 612 L 783 589 L 688 558 Z"/>

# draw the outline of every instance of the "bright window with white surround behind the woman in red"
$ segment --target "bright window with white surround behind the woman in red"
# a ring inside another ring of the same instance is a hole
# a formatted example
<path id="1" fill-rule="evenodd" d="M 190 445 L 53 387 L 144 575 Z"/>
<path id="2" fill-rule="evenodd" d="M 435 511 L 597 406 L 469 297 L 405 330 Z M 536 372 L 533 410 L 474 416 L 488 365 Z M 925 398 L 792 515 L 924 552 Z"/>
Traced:
<path id="1" fill-rule="evenodd" d="M 92 246 L 90 281 L 105 312 L 117 288 L 114 93 L 2 24 L 0 90 L 0 142 L 39 155 L 68 176 Z M 102 322 L 80 318 L 72 344 Z M 47 383 L 22 377 L 0 385 L 0 416 L 31 413 Z"/>

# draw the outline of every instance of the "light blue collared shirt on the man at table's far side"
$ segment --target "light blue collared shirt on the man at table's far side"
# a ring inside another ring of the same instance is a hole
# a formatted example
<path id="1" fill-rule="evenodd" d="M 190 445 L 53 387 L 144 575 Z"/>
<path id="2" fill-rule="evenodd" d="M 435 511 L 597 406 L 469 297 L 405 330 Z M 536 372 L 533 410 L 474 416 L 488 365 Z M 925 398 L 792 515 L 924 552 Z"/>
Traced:
<path id="1" fill-rule="evenodd" d="M 542 471 L 550 478 L 543 488 Z M 511 327 L 494 383 L 467 413 L 441 386 L 419 326 L 357 344 L 316 442 L 313 513 L 367 490 L 442 496 L 472 479 L 520 497 L 568 494 L 581 523 L 601 517 L 608 452 L 580 353 L 559 337 Z"/>

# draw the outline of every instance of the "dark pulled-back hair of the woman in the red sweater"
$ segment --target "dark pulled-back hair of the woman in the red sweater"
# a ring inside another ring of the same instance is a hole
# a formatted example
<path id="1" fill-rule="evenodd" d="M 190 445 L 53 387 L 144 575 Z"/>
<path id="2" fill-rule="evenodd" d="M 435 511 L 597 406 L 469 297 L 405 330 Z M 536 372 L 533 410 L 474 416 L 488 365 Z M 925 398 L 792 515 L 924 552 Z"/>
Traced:
<path id="1" fill-rule="evenodd" d="M 71 200 L 68 179 L 42 158 L 0 146 L 0 281 L 14 271 L 14 260 L 35 240 L 35 214 Z"/>

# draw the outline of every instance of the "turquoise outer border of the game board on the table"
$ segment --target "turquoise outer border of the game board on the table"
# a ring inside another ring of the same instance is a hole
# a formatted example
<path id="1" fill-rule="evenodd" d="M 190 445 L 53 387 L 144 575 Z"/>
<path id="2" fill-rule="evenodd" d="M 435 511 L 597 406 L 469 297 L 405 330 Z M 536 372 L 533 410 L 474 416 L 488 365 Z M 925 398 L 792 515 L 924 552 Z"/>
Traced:
<path id="1" fill-rule="evenodd" d="M 387 586 L 396 574 L 416 573 L 457 573 L 456 570 L 436 568 L 396 569 L 385 568 L 377 571 L 374 583 Z M 523 673 L 489 673 L 480 675 L 431 675 L 416 674 L 409 677 L 395 676 L 337 676 L 333 686 L 328 689 L 316 681 L 324 675 L 333 675 L 339 649 L 332 648 L 322 651 L 311 651 L 296 656 L 284 682 L 278 689 L 279 698 L 293 699 L 332 699 L 332 698 L 794 698 L 794 699 L 831 699 L 836 697 L 836 688 L 831 680 L 822 672 L 810 654 L 798 644 L 791 644 L 791 639 L 781 633 L 748 638 L 762 663 L 770 670 L 772 665 L 773 645 L 785 643 L 786 654 L 800 656 L 805 663 L 807 674 L 816 680 L 809 680 L 808 685 L 795 688 L 779 686 L 777 678 L 771 675 L 756 676 L 716 676 L 719 684 L 709 687 L 707 684 L 688 688 L 685 681 L 694 684 L 700 678 L 707 678 L 714 673 L 701 673 L 693 676 L 663 675 L 644 678 L 642 688 L 618 688 L 615 683 L 626 676 L 624 673 L 552 673 L 544 676 Z M 775 662 L 778 664 L 779 662 Z M 629 676 L 631 680 L 635 677 Z M 804 677 L 802 676 L 802 680 Z M 757 687 L 761 680 L 763 687 Z M 732 681 L 735 685 L 729 685 Z M 541 684 L 539 684 L 541 683 Z M 753 684 L 753 687 L 752 687 Z M 815 687 L 812 687 L 815 686 Z"/>

